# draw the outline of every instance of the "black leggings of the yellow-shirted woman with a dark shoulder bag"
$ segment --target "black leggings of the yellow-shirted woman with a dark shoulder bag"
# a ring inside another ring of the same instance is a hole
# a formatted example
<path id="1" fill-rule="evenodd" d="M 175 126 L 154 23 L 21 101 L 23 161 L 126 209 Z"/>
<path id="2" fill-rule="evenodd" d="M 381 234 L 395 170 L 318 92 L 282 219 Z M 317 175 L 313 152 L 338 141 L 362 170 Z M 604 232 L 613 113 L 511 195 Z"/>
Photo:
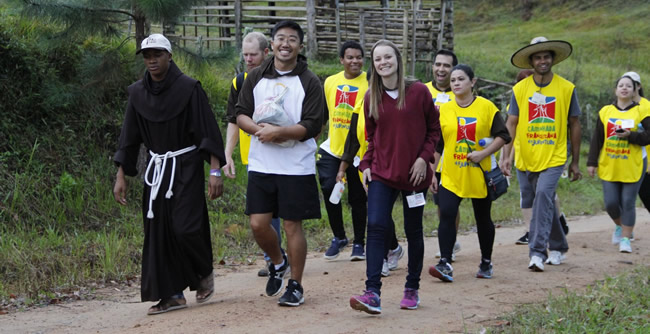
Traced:
<path id="1" fill-rule="evenodd" d="M 451 260 L 451 253 L 456 243 L 456 215 L 458 206 L 463 199 L 447 190 L 442 185 L 438 188 L 438 205 L 440 206 L 440 225 L 438 226 L 438 245 L 440 257 Z M 478 242 L 481 246 L 481 256 L 484 259 L 492 258 L 494 245 L 494 223 L 490 210 L 492 201 L 487 198 L 472 198 Z"/>

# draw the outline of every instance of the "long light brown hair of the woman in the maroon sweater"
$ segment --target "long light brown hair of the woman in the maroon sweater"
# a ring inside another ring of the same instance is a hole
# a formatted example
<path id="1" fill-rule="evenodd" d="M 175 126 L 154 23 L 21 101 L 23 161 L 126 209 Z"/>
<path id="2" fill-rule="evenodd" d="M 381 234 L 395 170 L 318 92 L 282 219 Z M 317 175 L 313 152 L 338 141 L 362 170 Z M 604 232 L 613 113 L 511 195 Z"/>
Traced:
<path id="1" fill-rule="evenodd" d="M 381 108 L 381 97 L 384 94 L 384 85 L 382 83 L 381 77 L 377 73 L 377 70 L 375 69 L 375 62 L 374 62 L 374 56 L 375 56 L 375 49 L 378 46 L 389 46 L 395 51 L 395 57 L 397 57 L 397 91 L 398 91 L 398 97 L 397 97 L 397 108 L 402 109 L 404 108 L 404 103 L 406 100 L 406 87 L 408 87 L 411 83 L 415 82 L 415 80 L 412 79 L 407 79 L 404 77 L 404 64 L 402 63 L 402 54 L 399 52 L 399 49 L 393 42 L 387 41 L 385 39 L 381 39 L 375 43 L 375 45 L 372 46 L 372 51 L 370 51 L 370 60 L 372 61 L 372 65 L 370 66 L 370 80 L 368 82 L 368 90 L 369 92 L 369 98 L 370 101 L 368 103 L 368 107 L 370 108 L 370 117 L 374 118 L 375 120 L 379 119 L 379 108 Z"/>

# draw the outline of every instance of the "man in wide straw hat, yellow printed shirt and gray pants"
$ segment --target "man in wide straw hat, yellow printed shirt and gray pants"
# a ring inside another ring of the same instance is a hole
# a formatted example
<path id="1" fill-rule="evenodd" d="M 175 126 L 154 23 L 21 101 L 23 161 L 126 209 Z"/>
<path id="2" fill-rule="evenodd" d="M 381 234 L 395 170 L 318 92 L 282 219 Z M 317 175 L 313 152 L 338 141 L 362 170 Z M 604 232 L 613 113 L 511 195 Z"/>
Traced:
<path id="1" fill-rule="evenodd" d="M 523 166 L 517 166 L 517 176 L 526 178 L 532 186 L 530 191 L 534 192 L 528 243 L 528 268 L 533 271 L 544 271 L 544 263 L 561 264 L 569 249 L 554 202 L 558 180 L 567 161 L 569 135 L 573 143 L 569 176 L 571 181 L 582 177 L 578 167 L 578 96 L 571 82 L 551 70 L 553 65 L 568 58 L 572 50 L 568 42 L 536 37 L 510 59 L 514 66 L 534 71 L 512 88 L 506 123 L 513 142 L 518 141 L 518 154 L 523 161 Z M 510 175 L 512 143 L 506 145 L 504 154 L 504 173 Z"/>

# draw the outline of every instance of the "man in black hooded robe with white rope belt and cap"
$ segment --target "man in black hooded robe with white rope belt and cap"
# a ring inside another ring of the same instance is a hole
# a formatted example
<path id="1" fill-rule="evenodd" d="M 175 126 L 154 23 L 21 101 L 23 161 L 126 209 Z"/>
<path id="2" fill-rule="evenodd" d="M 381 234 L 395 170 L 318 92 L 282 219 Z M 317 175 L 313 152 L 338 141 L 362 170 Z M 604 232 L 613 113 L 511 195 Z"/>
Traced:
<path id="1" fill-rule="evenodd" d="M 140 144 L 149 152 L 144 175 L 142 301 L 159 301 L 148 314 L 187 307 L 183 290 L 196 301 L 214 292 L 210 223 L 203 163 L 210 164 L 208 197 L 223 193 L 225 164 L 219 126 L 201 84 L 172 61 L 171 44 L 160 34 L 142 41 L 147 68 L 129 86 L 129 101 L 113 160 L 118 166 L 113 195 L 126 205 L 124 175 L 136 176 Z"/>

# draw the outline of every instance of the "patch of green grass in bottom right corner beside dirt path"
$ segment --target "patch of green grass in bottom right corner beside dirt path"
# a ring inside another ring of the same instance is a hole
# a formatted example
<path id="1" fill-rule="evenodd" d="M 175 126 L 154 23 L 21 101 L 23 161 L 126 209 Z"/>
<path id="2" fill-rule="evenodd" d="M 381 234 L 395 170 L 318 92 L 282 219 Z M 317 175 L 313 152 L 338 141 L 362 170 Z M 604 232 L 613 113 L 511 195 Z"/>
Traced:
<path id="1" fill-rule="evenodd" d="M 585 291 L 550 295 L 540 304 L 518 307 L 492 333 L 648 333 L 650 267 L 588 286 Z"/>

